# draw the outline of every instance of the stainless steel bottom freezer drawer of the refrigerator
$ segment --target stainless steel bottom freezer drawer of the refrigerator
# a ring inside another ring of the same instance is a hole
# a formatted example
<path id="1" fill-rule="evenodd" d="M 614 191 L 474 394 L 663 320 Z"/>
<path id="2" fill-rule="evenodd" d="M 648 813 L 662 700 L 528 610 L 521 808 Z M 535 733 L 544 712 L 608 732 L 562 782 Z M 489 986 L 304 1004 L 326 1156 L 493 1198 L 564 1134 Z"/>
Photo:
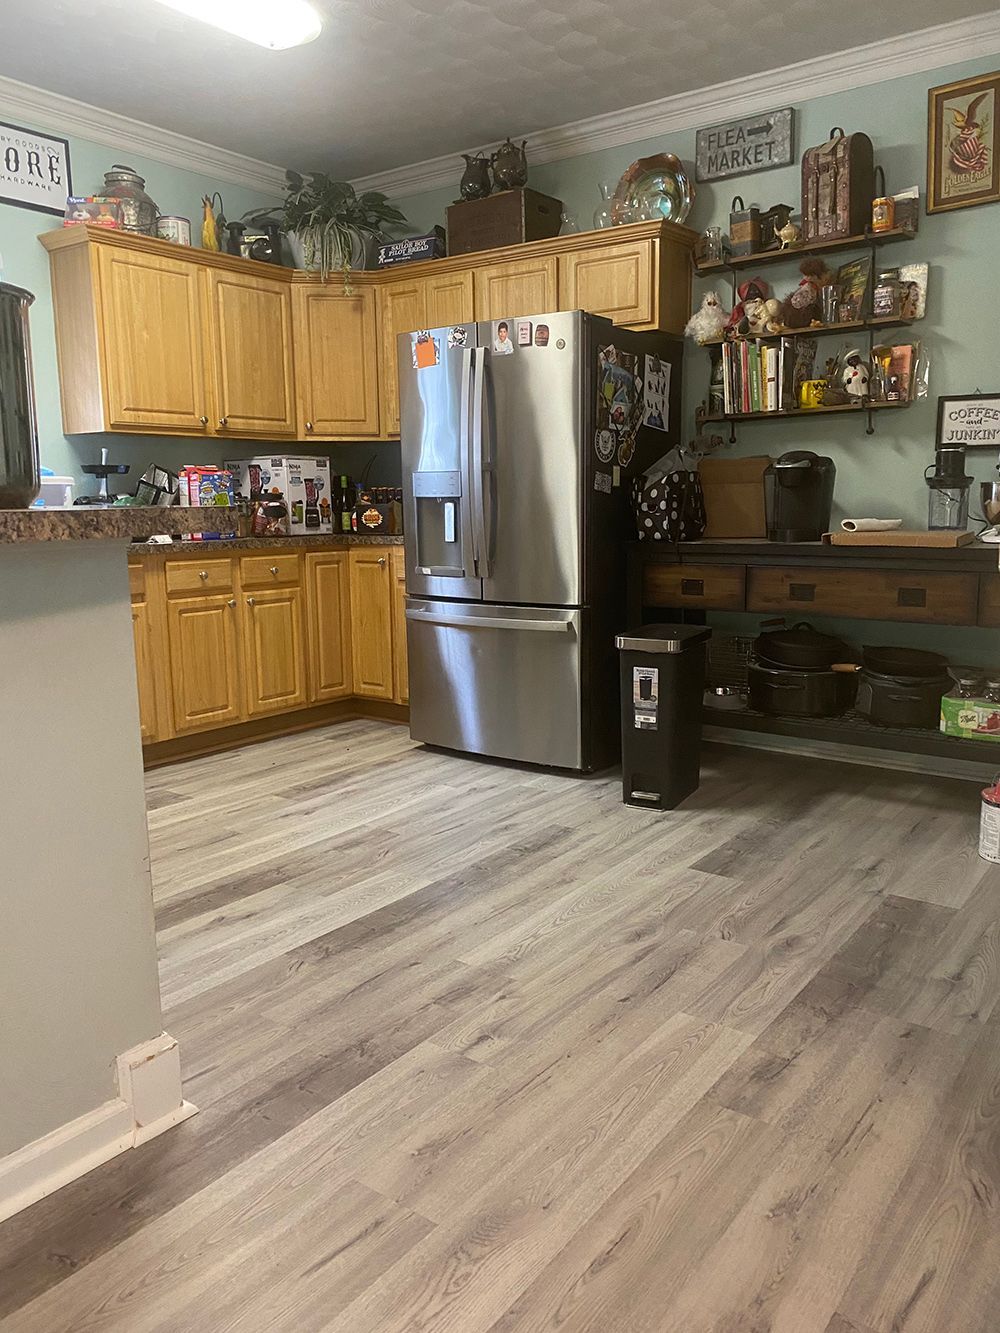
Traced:
<path id="1" fill-rule="evenodd" d="M 583 768 L 584 615 L 408 597 L 413 740 Z"/>

